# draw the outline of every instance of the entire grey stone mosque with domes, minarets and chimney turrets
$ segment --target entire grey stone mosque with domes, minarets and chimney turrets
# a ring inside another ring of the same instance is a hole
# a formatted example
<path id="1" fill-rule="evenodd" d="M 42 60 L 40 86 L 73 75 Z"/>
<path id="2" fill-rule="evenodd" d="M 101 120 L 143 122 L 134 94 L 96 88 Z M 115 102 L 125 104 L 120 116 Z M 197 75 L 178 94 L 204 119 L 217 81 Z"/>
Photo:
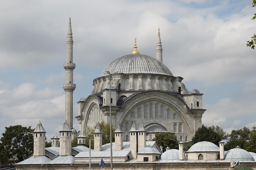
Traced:
<path id="1" fill-rule="evenodd" d="M 162 63 L 162 43 L 158 29 L 156 58 L 140 54 L 135 39 L 131 54 L 119 57 L 93 80 L 93 90 L 78 102 L 79 133 L 73 129 L 73 37 L 71 20 L 67 31 L 67 57 L 64 69 L 65 121 L 52 147 L 45 148 L 46 131 L 39 121 L 34 131 L 34 154 L 16 163 L 17 170 L 230 170 L 244 163 L 256 168 L 256 153 L 239 147 L 225 151 L 211 142 L 198 142 L 184 152 L 202 126 L 202 95 L 189 91 L 182 77 L 173 76 Z M 98 124 L 94 148 L 85 146 L 85 130 L 104 120 L 115 128 L 115 142 L 102 145 Z M 152 139 L 156 133 L 175 135 L 179 149 L 159 146 Z M 78 146 L 71 147 L 77 137 Z M 105 163 L 103 163 L 103 160 Z"/>

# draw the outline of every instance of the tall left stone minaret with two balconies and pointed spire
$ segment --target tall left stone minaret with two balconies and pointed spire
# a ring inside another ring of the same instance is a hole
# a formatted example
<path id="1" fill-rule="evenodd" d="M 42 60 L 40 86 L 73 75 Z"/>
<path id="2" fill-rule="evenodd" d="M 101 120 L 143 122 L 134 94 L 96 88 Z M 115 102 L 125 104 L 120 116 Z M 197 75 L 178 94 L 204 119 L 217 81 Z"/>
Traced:
<path id="1" fill-rule="evenodd" d="M 73 37 L 71 29 L 71 19 L 67 30 L 67 59 L 64 64 L 66 70 L 66 82 L 63 84 L 65 90 L 65 120 L 69 126 L 73 129 L 73 91 L 76 85 L 73 84 L 73 70 L 76 68 L 76 64 L 73 63 Z"/>

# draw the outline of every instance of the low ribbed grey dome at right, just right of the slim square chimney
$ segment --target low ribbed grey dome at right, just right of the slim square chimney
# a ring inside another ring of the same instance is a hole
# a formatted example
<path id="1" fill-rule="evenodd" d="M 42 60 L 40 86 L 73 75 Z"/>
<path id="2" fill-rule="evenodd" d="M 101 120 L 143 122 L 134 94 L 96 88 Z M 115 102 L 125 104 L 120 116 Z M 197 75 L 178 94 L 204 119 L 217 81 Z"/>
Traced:
<path id="1" fill-rule="evenodd" d="M 254 161 L 253 156 L 239 146 L 230 149 L 225 153 L 225 159 L 228 161 Z"/>

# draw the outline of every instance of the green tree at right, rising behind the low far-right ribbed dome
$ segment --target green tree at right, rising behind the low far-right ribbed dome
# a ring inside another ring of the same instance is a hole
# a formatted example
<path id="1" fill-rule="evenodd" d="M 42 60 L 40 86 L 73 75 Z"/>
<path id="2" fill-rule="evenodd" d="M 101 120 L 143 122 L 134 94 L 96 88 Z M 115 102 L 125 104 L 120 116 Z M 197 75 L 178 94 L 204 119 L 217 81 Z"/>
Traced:
<path id="1" fill-rule="evenodd" d="M 229 135 L 229 141 L 225 145 L 225 150 L 233 149 L 236 146 L 240 146 L 240 148 L 246 148 L 247 142 L 250 140 L 251 131 L 247 127 L 243 127 L 242 129 L 232 130 Z"/>

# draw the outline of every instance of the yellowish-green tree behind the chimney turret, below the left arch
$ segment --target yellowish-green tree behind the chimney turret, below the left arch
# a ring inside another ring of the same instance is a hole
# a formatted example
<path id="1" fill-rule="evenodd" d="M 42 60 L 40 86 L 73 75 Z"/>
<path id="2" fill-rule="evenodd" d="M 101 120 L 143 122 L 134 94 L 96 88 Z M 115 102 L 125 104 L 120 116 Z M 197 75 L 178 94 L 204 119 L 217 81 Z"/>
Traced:
<path id="1" fill-rule="evenodd" d="M 89 139 L 91 138 L 91 148 L 94 148 L 94 137 L 93 137 L 93 133 L 97 127 L 97 124 L 99 123 L 99 126 L 101 127 L 102 130 L 102 144 L 108 144 L 110 143 L 110 124 L 106 123 L 104 121 L 101 122 L 97 122 L 94 126 L 94 128 L 88 127 L 85 131 L 85 136 L 86 136 L 86 140 L 85 140 L 85 146 L 89 147 Z M 114 127 L 112 125 L 112 142 L 115 142 L 115 135 L 114 135 Z"/>

